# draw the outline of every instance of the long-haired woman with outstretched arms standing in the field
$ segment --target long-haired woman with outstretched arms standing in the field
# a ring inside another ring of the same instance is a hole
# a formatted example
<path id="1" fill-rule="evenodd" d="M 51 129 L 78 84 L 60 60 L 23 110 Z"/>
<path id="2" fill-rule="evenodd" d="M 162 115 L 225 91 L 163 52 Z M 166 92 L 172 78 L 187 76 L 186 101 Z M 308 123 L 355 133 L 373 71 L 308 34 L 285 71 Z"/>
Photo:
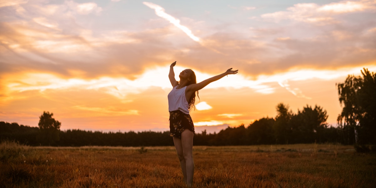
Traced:
<path id="1" fill-rule="evenodd" d="M 228 69 L 226 72 L 213 76 L 200 83 L 196 81 L 196 75 L 193 70 L 185 69 L 179 74 L 180 81 L 176 81 L 174 66 L 176 61 L 170 66 L 170 78 L 173 89 L 168 93 L 168 111 L 170 112 L 170 136 L 173 136 L 174 145 L 177 156 L 182 167 L 184 182 L 191 186 L 193 182 L 193 135 L 194 126 L 192 118 L 189 114 L 190 110 L 194 108 L 194 101 L 199 95 L 199 90 L 214 82 L 223 76 L 229 74 L 236 74 L 238 70 Z"/>

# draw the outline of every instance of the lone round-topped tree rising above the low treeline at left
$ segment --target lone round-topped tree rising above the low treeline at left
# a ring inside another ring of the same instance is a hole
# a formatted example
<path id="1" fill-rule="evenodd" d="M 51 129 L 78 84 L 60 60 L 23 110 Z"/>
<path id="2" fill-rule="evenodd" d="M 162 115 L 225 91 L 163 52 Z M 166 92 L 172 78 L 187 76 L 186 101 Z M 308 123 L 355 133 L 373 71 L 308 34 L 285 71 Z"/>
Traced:
<path id="1" fill-rule="evenodd" d="M 56 142 L 60 140 L 60 126 L 61 122 L 52 118 L 53 113 L 43 112 L 39 116 L 39 135 L 37 140 L 42 145 L 56 145 Z"/>

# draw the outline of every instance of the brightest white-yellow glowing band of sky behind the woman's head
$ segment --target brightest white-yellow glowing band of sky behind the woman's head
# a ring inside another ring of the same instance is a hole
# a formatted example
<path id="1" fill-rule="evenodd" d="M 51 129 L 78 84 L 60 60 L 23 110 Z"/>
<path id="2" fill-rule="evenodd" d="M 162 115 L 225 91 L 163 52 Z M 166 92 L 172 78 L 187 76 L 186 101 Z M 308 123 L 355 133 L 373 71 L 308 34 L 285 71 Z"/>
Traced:
<path id="1" fill-rule="evenodd" d="M 348 75 L 349 72 L 359 72 L 364 66 L 341 68 L 339 70 L 296 70 L 291 69 L 288 72 L 276 73 L 274 75 L 259 75 L 256 80 L 247 79 L 241 71 L 237 75 L 225 77 L 220 81 L 214 82 L 206 86 L 205 88 L 228 88 L 235 89 L 249 87 L 256 92 L 262 94 L 271 94 L 275 88 L 269 86 L 270 83 L 278 83 L 281 87 L 284 87 L 289 92 L 297 97 L 311 99 L 309 96 L 305 96 L 298 88 L 290 88 L 288 81 L 305 81 L 308 79 L 318 78 L 324 80 L 336 79 L 341 76 Z M 375 65 L 368 65 L 369 70 L 376 70 Z M 176 66 L 175 75 L 179 75 L 179 70 L 184 70 L 184 67 Z M 194 70 L 197 76 L 197 81 L 200 82 L 213 75 L 202 73 L 199 70 Z M 5 92 L 11 96 L 13 92 L 24 92 L 28 90 L 44 91 L 47 89 L 63 90 L 69 88 L 84 89 L 84 90 L 99 90 L 104 91 L 117 98 L 124 99 L 128 93 L 140 93 L 148 87 L 161 87 L 162 89 L 169 89 L 171 84 L 168 83 L 167 75 L 168 68 L 155 66 L 145 70 L 141 75 L 136 76 L 136 79 L 129 80 L 127 78 L 111 78 L 108 76 L 102 76 L 94 79 L 82 79 L 82 78 L 62 78 L 61 76 L 52 73 L 19 73 L 17 75 L 5 75 L 3 76 L 3 85 L 6 86 Z M 177 80 L 179 78 L 177 77 Z M 198 109 L 202 110 L 210 109 L 210 106 L 206 102 L 197 104 Z"/>

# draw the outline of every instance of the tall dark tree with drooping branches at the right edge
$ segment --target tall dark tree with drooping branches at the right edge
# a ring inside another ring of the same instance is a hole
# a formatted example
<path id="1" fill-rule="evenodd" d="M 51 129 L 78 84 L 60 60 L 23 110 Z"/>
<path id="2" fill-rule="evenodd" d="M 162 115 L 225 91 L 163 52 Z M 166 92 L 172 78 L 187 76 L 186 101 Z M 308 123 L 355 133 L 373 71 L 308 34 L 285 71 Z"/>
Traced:
<path id="1" fill-rule="evenodd" d="M 344 83 L 337 84 L 342 108 L 338 124 L 343 128 L 347 144 L 376 144 L 376 75 L 368 69 L 362 76 L 348 75 Z"/>

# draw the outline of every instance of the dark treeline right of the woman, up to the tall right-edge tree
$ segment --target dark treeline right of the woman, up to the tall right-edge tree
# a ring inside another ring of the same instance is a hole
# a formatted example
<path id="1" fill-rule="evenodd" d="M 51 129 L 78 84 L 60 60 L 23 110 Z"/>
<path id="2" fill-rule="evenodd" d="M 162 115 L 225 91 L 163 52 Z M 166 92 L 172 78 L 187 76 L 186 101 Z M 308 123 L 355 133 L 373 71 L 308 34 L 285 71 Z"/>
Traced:
<path id="1" fill-rule="evenodd" d="M 259 145 L 299 143 L 345 144 L 342 128 L 328 126 L 326 110 L 306 106 L 294 114 L 288 105 L 277 105 L 276 118 L 261 118 L 249 126 L 228 127 L 219 133 L 203 131 L 194 137 L 195 145 Z"/>

